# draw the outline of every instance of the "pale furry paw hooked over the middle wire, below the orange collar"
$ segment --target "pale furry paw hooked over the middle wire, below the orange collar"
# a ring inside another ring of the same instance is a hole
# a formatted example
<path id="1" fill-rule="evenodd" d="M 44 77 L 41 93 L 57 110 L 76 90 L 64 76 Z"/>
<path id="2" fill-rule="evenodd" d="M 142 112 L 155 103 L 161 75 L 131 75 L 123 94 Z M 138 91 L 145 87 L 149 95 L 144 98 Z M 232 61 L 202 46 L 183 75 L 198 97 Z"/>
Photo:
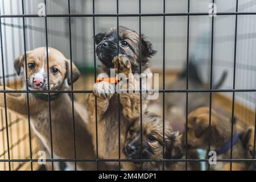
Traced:
<path id="1" fill-rule="evenodd" d="M 108 82 L 101 81 L 93 85 L 93 93 L 98 97 L 110 99 L 115 93 L 115 88 Z"/>

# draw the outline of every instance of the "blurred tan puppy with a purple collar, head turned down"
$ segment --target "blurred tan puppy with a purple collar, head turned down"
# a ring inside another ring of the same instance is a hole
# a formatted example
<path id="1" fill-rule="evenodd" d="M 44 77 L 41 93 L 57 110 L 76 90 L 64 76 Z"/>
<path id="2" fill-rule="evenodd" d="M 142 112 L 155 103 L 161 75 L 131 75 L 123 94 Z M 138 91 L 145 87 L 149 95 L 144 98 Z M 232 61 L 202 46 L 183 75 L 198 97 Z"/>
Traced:
<path id="1" fill-rule="evenodd" d="M 210 137 L 210 150 L 216 151 L 217 159 L 230 159 L 230 148 L 233 147 L 233 159 L 245 159 L 245 149 L 243 148 L 240 134 L 236 127 L 233 132 L 233 146 L 231 146 L 231 123 L 230 119 L 212 110 L 211 125 L 209 127 L 208 107 L 200 107 L 188 115 L 188 147 L 192 150 L 203 148 L 208 150 Z M 185 131 L 183 134 L 185 141 Z M 184 142 L 185 143 L 185 142 Z M 214 170 L 229 170 L 230 162 L 217 162 L 210 166 Z M 245 170 L 246 164 L 243 162 L 232 162 L 232 170 Z"/>

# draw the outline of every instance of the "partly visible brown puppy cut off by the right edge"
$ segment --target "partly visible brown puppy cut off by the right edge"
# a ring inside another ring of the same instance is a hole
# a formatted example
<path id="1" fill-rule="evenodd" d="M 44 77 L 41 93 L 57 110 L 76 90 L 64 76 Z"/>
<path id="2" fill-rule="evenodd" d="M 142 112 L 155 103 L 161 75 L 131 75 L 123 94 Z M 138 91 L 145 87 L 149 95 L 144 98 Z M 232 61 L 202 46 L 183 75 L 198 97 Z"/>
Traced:
<path id="1" fill-rule="evenodd" d="M 255 128 L 250 126 L 245 133 L 241 135 L 243 146 L 246 149 L 246 159 L 255 159 L 256 149 L 254 148 L 254 137 L 255 137 Z M 250 162 L 248 164 L 248 169 L 256 169 L 256 162 Z"/>

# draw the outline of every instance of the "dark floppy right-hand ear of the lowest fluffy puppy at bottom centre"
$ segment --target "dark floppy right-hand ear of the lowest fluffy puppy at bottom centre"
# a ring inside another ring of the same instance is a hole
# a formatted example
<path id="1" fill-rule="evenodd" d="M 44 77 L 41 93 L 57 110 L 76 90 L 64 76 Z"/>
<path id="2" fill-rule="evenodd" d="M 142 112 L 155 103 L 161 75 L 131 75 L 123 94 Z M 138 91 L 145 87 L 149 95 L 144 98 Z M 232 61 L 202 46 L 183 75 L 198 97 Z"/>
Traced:
<path id="1" fill-rule="evenodd" d="M 182 135 L 179 131 L 170 133 L 165 140 L 164 157 L 166 159 L 180 159 L 183 156 L 183 149 L 181 144 Z"/>

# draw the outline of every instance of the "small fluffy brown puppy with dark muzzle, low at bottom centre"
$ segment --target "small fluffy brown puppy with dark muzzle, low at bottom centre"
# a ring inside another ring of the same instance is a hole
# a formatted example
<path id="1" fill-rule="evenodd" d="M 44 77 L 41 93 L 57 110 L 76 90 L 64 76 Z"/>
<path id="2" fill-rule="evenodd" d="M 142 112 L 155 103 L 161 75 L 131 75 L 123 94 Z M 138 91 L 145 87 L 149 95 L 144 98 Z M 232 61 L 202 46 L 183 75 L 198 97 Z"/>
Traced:
<path id="1" fill-rule="evenodd" d="M 145 113 L 142 124 L 141 143 L 141 122 L 137 119 L 127 131 L 123 153 L 127 159 L 185 159 L 181 135 L 173 131 L 170 123 L 165 122 L 163 140 L 163 121 L 155 114 Z M 163 154 L 164 148 L 164 154 Z M 126 162 L 125 169 L 130 170 L 163 170 L 163 162 Z M 142 168 L 141 168 L 142 167 Z M 165 170 L 185 170 L 185 162 L 165 162 Z M 188 170 L 200 170 L 200 166 L 192 167 L 189 164 Z"/>

